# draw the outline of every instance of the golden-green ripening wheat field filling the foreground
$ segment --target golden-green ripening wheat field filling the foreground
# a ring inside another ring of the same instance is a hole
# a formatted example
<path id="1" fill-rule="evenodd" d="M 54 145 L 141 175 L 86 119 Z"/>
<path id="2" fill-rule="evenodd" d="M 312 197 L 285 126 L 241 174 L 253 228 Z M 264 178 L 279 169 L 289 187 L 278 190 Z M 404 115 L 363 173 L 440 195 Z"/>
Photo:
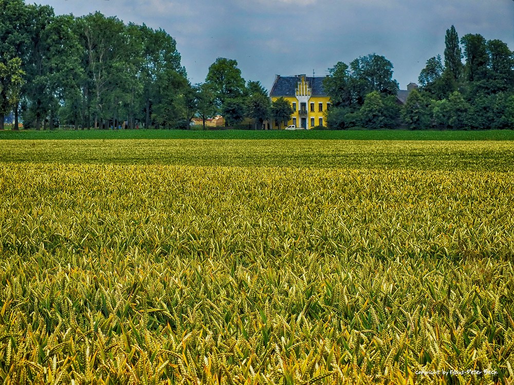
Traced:
<path id="1" fill-rule="evenodd" d="M 514 379 L 512 141 L 26 139 L 5 384 Z"/>

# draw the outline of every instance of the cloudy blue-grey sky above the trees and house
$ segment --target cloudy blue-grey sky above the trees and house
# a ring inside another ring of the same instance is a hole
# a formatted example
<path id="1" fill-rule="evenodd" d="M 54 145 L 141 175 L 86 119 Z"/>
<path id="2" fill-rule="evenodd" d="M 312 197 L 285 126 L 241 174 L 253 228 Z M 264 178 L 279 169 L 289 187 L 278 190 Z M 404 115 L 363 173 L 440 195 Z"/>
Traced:
<path id="1" fill-rule="evenodd" d="M 268 90 L 275 74 L 326 75 L 337 62 L 377 53 L 400 88 L 417 82 L 427 59 L 443 56 L 446 29 L 480 33 L 514 47 L 511 0 L 33 0 L 57 14 L 100 11 L 166 30 L 190 81 L 217 57 L 237 60 L 245 80 Z M 27 2 L 32 2 L 28 1 Z"/>

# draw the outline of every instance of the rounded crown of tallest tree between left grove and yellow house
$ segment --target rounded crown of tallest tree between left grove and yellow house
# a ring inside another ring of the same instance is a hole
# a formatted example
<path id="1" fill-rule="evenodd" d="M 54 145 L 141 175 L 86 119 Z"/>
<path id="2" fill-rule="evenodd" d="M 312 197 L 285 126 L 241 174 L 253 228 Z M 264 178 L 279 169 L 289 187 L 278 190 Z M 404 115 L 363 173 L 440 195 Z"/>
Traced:
<path id="1" fill-rule="evenodd" d="M 205 82 L 211 87 L 218 108 L 228 99 L 241 98 L 245 89 L 245 80 L 237 68 L 237 61 L 224 57 L 218 57 L 210 65 Z"/>

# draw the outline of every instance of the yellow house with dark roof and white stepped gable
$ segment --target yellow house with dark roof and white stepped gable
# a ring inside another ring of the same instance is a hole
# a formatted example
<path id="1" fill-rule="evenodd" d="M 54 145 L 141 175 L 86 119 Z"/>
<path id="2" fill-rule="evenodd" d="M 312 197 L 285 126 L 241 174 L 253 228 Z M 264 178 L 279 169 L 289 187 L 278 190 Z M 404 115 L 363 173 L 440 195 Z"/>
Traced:
<path id="1" fill-rule="evenodd" d="M 269 95 L 271 102 L 283 97 L 291 103 L 294 112 L 288 125 L 304 129 L 326 126 L 330 98 L 323 88 L 323 79 L 323 76 L 276 76 Z M 280 128 L 274 119 L 272 124 L 273 128 Z"/>

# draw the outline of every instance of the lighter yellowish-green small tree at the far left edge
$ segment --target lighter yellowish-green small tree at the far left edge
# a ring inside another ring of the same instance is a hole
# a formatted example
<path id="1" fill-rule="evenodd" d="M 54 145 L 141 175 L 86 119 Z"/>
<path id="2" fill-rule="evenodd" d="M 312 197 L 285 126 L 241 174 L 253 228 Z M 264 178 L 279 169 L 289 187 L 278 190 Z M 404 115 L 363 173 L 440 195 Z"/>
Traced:
<path id="1" fill-rule="evenodd" d="M 23 84 L 22 61 L 14 57 L 2 63 L 0 60 L 0 129 L 4 129 L 4 118 L 20 97 Z"/>

